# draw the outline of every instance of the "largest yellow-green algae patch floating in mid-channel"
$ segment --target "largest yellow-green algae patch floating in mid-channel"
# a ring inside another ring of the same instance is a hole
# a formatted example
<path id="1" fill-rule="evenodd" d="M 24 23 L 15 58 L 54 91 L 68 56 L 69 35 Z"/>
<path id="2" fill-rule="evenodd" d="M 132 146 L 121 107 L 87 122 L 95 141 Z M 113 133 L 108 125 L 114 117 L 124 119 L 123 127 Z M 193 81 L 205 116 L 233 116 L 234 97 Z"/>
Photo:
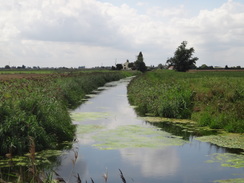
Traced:
<path id="1" fill-rule="evenodd" d="M 143 127 L 139 125 L 119 126 L 116 129 L 101 131 L 93 136 L 99 149 L 122 149 L 122 148 L 162 148 L 167 146 L 183 145 L 187 141 L 181 137 L 172 136 L 158 128 Z"/>

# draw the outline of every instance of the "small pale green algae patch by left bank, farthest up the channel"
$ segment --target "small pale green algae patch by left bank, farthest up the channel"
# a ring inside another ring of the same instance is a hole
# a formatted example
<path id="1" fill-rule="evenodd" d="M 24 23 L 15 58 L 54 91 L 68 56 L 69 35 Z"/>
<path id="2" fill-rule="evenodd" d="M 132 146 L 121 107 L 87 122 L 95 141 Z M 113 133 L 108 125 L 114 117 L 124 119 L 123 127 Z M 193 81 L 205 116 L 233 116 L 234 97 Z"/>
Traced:
<path id="1" fill-rule="evenodd" d="M 86 121 L 86 120 L 98 120 L 101 118 L 107 118 L 110 114 L 106 112 L 73 112 L 71 118 L 74 121 Z"/>

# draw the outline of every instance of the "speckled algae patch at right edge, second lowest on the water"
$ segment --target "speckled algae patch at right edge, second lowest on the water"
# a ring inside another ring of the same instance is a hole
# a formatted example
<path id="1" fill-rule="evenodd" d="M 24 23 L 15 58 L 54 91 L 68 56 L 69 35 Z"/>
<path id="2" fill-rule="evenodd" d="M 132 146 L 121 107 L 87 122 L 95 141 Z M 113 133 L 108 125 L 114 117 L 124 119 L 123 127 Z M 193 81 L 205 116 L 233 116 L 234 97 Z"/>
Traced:
<path id="1" fill-rule="evenodd" d="M 214 153 L 211 156 L 211 160 L 207 163 L 220 163 L 223 167 L 243 168 L 244 167 L 244 154 L 232 154 L 232 153 Z"/>

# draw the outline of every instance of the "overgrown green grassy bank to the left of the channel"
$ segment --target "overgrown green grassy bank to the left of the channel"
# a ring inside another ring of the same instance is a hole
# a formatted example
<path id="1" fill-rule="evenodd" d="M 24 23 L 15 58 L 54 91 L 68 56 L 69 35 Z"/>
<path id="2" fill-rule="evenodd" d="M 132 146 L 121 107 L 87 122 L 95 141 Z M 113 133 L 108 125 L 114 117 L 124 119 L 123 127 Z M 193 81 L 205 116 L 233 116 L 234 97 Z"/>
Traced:
<path id="1" fill-rule="evenodd" d="M 68 109 L 106 82 L 129 72 L 55 73 L 33 78 L 0 80 L 0 154 L 56 148 L 74 138 Z"/>

